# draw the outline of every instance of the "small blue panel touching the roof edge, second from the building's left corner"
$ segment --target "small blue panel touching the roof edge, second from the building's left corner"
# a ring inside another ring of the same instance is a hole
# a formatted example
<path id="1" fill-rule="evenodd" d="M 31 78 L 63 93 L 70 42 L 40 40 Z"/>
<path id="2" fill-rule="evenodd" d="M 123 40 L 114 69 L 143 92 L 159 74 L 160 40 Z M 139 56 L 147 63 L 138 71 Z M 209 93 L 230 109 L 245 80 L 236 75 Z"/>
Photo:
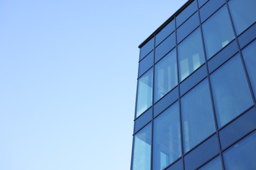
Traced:
<path id="1" fill-rule="evenodd" d="M 172 20 L 156 35 L 156 46 L 175 30 L 175 20 Z"/>

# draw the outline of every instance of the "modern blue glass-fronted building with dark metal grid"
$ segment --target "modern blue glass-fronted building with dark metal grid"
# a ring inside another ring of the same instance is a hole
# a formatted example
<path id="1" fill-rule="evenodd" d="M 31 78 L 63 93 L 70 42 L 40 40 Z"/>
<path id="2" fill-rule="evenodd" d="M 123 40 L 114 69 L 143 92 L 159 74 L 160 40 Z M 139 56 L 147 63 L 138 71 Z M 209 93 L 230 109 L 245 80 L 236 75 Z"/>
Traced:
<path id="1" fill-rule="evenodd" d="M 256 169 L 256 0 L 190 0 L 139 45 L 131 169 Z"/>

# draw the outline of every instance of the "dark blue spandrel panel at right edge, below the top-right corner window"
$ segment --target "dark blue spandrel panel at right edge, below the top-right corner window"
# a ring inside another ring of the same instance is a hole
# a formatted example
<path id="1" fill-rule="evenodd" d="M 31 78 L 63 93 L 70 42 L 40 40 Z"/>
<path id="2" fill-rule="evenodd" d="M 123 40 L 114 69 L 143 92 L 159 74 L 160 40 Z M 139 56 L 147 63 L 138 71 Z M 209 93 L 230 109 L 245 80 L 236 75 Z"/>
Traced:
<path id="1" fill-rule="evenodd" d="M 244 48 L 249 42 L 256 38 L 256 23 L 238 37 L 240 48 Z"/>

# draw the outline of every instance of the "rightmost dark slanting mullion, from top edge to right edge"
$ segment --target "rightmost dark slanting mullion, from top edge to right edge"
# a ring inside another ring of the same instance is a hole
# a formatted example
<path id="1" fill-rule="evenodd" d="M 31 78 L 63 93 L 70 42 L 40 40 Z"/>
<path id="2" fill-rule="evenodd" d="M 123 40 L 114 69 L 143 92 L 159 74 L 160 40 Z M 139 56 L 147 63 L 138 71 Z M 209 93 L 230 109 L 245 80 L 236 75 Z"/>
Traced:
<path id="1" fill-rule="evenodd" d="M 236 39 L 236 44 L 238 45 L 238 51 L 239 51 L 239 54 L 240 54 L 240 58 L 242 59 L 242 65 L 243 65 L 243 68 L 244 68 L 244 73 L 245 73 L 245 77 L 246 77 L 246 80 L 247 80 L 247 84 L 249 85 L 249 90 L 251 92 L 251 97 L 253 99 L 253 104 L 256 106 L 256 99 L 255 99 L 255 96 L 254 96 L 254 93 L 253 93 L 253 88 L 251 86 L 251 82 L 249 80 L 249 75 L 247 73 L 247 69 L 246 69 L 246 66 L 245 66 L 244 58 L 243 58 L 243 55 L 242 55 L 242 50 L 241 50 L 240 44 L 238 42 L 238 36 L 236 35 L 236 29 L 234 27 L 234 22 L 232 20 L 232 16 L 231 16 L 231 12 L 230 12 L 230 9 L 229 9 L 229 6 L 228 6 L 228 2 L 226 2 L 226 7 L 228 9 L 228 15 L 229 15 L 229 18 L 230 18 L 232 29 L 234 31 L 234 36 L 235 36 L 235 39 Z"/>

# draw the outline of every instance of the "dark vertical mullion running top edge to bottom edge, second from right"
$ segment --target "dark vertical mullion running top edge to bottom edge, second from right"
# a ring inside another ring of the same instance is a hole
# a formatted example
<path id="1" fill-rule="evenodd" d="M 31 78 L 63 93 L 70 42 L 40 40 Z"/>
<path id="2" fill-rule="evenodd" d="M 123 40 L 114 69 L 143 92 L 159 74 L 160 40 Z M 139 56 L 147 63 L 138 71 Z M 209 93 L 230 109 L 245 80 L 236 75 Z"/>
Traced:
<path id="1" fill-rule="evenodd" d="M 209 92 L 210 92 L 210 96 L 211 96 L 211 105 L 212 105 L 211 107 L 213 109 L 213 117 L 214 117 L 214 122 L 215 122 L 215 129 L 216 129 L 216 135 L 217 135 L 217 140 L 218 140 L 218 145 L 219 145 L 219 155 L 221 156 L 221 165 L 222 165 L 222 167 L 224 169 L 223 154 L 221 152 L 221 140 L 219 138 L 217 116 L 216 116 L 216 112 L 215 112 L 215 105 L 214 105 L 214 102 L 213 102 L 213 92 L 211 91 L 211 80 L 210 80 L 210 77 L 209 77 L 209 68 L 208 68 L 207 56 L 206 56 L 206 52 L 205 52 L 205 43 L 204 43 L 204 39 L 203 39 L 203 29 L 202 29 L 202 24 L 201 24 L 201 16 L 200 16 L 199 5 L 198 5 L 198 14 L 199 14 L 199 20 L 200 20 L 200 30 L 201 30 L 201 37 L 202 37 L 202 42 L 203 42 L 203 54 L 204 54 L 205 66 L 206 66 L 206 70 L 207 70 L 207 79 L 208 79 L 208 84 L 209 84 Z"/>

